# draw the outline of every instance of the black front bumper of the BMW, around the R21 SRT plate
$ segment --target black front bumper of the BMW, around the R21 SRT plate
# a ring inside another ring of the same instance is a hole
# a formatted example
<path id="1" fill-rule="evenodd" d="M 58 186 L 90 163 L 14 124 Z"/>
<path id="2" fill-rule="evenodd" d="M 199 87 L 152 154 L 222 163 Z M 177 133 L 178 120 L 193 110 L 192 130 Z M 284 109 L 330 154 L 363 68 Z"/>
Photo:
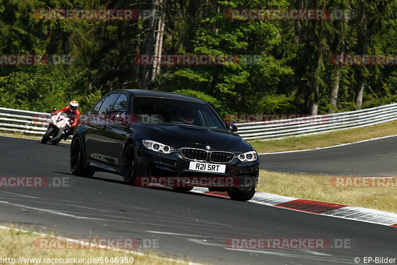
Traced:
<path id="1" fill-rule="evenodd" d="M 233 177 L 238 181 L 233 181 L 232 186 L 219 185 L 213 186 L 210 190 L 226 191 L 241 190 L 250 191 L 255 189 L 259 177 L 259 160 L 253 162 L 241 162 L 234 158 L 232 162 L 212 163 L 226 165 L 225 173 L 211 173 L 203 171 L 189 170 L 192 160 L 181 156 L 180 153 L 162 154 L 146 149 L 142 145 L 137 150 L 137 174 L 136 177 Z M 200 162 L 201 163 L 201 162 Z M 186 178 L 185 178 L 186 179 Z M 190 183 L 195 185 L 193 182 Z"/>

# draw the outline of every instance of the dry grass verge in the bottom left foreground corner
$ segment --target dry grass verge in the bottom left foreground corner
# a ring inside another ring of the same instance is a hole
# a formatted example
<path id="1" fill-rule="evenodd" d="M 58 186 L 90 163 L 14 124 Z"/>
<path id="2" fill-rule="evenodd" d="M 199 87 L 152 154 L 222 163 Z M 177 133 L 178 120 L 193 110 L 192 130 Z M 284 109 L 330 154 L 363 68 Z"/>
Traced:
<path id="1" fill-rule="evenodd" d="M 73 265 L 85 265 L 85 264 L 95 264 L 94 262 L 88 263 L 89 258 L 99 258 L 99 257 L 108 257 L 116 258 L 116 257 L 126 257 L 126 258 L 133 258 L 133 264 L 137 265 L 153 265 L 153 264 L 161 264 L 161 265 L 181 265 L 181 264 L 188 264 L 188 261 L 184 260 L 176 260 L 170 259 L 167 257 L 161 257 L 157 254 L 153 254 L 151 252 L 143 252 L 144 256 L 126 253 L 124 251 L 116 251 L 116 250 L 106 250 L 106 249 L 37 249 L 34 247 L 34 241 L 38 238 L 50 238 L 51 236 L 43 236 L 38 235 L 38 233 L 34 232 L 20 232 L 16 231 L 15 229 L 0 229 L 0 257 L 4 258 L 11 258 L 16 259 L 19 261 L 20 257 L 25 259 L 42 259 L 41 262 L 32 261 L 29 262 L 25 260 L 21 264 L 24 265 L 42 265 L 42 264 L 73 264 Z M 63 261 L 63 263 L 57 263 L 54 260 L 54 263 L 43 263 L 43 259 L 86 259 L 85 263 L 69 263 Z M 92 261 L 92 260 L 91 260 Z M 5 260 L 1 261 L 0 264 L 11 264 L 11 262 L 7 262 Z M 123 264 L 123 263 L 97 263 L 103 265 L 112 265 L 112 264 Z M 124 263 L 131 264 L 131 263 Z"/>

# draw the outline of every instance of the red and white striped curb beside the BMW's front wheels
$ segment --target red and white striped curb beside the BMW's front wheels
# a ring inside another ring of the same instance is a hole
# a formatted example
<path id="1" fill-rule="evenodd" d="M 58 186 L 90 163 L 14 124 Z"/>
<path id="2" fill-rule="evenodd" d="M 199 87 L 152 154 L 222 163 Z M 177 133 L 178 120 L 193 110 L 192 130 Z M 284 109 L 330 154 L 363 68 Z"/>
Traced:
<path id="1" fill-rule="evenodd" d="M 193 192 L 213 196 L 229 197 L 226 192 L 208 191 L 195 187 Z M 397 214 L 368 208 L 348 206 L 336 203 L 304 200 L 265 192 L 257 192 L 249 202 L 273 206 L 312 214 L 327 215 L 343 219 L 397 227 Z"/>

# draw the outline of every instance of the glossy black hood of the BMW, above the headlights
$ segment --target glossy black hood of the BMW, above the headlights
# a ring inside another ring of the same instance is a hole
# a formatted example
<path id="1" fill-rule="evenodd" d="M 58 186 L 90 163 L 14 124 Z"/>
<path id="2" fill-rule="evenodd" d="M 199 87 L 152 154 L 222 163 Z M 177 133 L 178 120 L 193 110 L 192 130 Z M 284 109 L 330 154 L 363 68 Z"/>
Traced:
<path id="1" fill-rule="evenodd" d="M 203 148 L 206 145 L 217 147 L 220 151 L 248 152 L 252 150 L 249 143 L 239 135 L 225 129 L 209 129 L 180 124 L 139 124 L 133 129 L 142 132 L 142 137 L 173 147 Z"/>

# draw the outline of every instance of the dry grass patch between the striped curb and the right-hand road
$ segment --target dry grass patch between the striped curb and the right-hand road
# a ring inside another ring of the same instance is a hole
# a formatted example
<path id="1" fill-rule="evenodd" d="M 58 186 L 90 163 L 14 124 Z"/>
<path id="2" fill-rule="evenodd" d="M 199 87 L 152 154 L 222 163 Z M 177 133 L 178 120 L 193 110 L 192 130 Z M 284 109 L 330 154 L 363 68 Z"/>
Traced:
<path id="1" fill-rule="evenodd" d="M 331 177 L 325 175 L 261 170 L 257 190 L 397 213 L 396 187 L 334 187 L 330 180 Z"/>

